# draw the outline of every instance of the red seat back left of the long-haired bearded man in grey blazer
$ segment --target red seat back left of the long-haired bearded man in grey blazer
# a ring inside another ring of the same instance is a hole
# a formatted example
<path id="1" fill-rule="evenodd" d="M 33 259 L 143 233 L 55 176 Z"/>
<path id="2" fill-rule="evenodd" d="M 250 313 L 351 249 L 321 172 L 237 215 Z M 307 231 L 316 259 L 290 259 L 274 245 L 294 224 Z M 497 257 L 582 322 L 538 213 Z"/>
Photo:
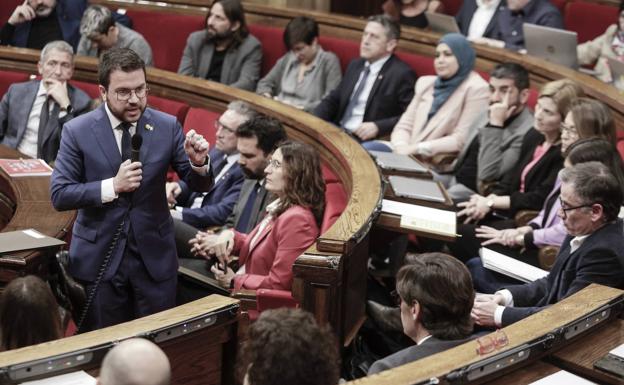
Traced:
<path id="1" fill-rule="evenodd" d="M 203 16 L 136 10 L 126 14 L 152 47 L 154 66 L 172 72 L 178 71 L 188 35 L 205 28 Z"/>

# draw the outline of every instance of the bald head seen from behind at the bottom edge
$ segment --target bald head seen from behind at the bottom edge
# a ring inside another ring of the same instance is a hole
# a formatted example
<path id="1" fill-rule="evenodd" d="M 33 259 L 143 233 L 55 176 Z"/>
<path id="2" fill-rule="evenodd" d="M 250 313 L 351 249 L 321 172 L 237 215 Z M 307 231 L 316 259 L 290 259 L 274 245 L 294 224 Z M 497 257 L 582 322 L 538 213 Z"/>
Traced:
<path id="1" fill-rule="evenodd" d="M 106 354 L 98 385 L 169 385 L 170 380 L 165 353 L 146 339 L 133 338 Z"/>

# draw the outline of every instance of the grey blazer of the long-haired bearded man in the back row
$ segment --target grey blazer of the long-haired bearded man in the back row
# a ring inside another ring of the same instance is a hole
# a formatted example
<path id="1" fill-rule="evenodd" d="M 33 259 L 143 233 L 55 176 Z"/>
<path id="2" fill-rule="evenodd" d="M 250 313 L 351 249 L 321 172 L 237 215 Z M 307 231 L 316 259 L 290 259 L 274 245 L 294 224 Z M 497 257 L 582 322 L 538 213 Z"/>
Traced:
<path id="1" fill-rule="evenodd" d="M 180 60 L 178 73 L 205 79 L 210 69 L 214 44 L 206 40 L 206 31 L 189 35 Z M 229 47 L 223 59 L 221 83 L 247 91 L 255 91 L 260 78 L 262 45 L 247 35 L 236 48 Z"/>

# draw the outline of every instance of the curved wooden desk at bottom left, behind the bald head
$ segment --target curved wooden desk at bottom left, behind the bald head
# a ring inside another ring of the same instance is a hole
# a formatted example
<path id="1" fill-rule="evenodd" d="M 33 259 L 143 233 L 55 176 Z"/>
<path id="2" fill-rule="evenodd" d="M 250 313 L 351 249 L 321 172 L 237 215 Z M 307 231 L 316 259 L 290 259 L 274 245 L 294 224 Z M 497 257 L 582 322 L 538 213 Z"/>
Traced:
<path id="1" fill-rule="evenodd" d="M 214 323 L 201 329 L 193 327 L 196 324 L 189 322 L 199 319 L 202 323 L 209 318 Z M 239 337 L 242 336 L 241 321 L 244 322 L 244 319 L 239 311 L 239 301 L 211 295 L 174 309 L 98 331 L 2 352 L 0 383 L 23 382 L 11 380 L 8 375 L 16 372 L 16 366 L 24 367 L 21 373 L 36 373 L 41 368 L 37 362 L 44 364 L 44 371 L 47 371 L 45 368 L 47 365 L 67 367 L 54 369 L 52 373 L 37 376 L 38 378 L 76 370 L 86 370 L 96 376 L 104 355 L 115 343 L 132 337 L 148 337 L 169 357 L 172 384 L 234 384 L 236 350 Z M 167 334 L 169 331 L 173 336 L 171 338 Z M 80 363 L 77 358 L 80 352 L 87 357 L 85 360 L 88 362 Z M 65 358 L 57 361 L 59 356 Z M 31 368 L 30 371 L 28 368 Z"/>

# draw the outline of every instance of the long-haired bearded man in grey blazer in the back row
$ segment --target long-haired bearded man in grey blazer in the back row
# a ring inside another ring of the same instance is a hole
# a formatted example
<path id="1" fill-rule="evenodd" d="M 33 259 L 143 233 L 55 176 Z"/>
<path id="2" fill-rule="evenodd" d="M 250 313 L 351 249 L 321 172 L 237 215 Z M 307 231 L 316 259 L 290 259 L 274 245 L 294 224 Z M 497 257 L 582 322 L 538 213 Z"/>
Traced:
<path id="1" fill-rule="evenodd" d="M 262 46 L 249 34 L 239 0 L 217 0 L 206 29 L 189 35 L 178 73 L 255 91 Z"/>

